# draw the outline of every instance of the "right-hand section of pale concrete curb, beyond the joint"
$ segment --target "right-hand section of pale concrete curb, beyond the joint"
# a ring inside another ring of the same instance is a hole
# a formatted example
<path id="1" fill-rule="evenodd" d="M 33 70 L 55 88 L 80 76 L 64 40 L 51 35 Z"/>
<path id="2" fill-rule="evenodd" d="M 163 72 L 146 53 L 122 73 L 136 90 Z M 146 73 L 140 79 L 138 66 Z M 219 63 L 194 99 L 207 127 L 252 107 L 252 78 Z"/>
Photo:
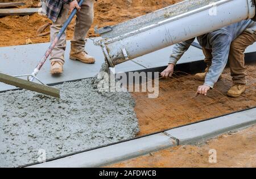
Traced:
<path id="1" fill-rule="evenodd" d="M 256 123 L 256 108 L 168 130 L 165 133 L 177 138 L 179 144 L 191 144 L 254 123 Z"/>

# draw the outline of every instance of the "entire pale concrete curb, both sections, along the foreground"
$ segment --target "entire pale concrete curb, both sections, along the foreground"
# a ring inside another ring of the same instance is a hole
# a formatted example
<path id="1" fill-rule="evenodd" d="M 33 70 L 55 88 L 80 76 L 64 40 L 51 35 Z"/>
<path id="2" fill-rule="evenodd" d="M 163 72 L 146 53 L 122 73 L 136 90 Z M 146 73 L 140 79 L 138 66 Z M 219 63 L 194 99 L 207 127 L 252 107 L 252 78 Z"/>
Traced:
<path id="1" fill-rule="evenodd" d="M 113 144 L 112 146 L 64 157 L 63 159 L 32 165 L 31 167 L 101 167 L 159 151 L 163 148 L 199 142 L 255 123 L 256 108 L 178 127 L 164 133 Z"/>

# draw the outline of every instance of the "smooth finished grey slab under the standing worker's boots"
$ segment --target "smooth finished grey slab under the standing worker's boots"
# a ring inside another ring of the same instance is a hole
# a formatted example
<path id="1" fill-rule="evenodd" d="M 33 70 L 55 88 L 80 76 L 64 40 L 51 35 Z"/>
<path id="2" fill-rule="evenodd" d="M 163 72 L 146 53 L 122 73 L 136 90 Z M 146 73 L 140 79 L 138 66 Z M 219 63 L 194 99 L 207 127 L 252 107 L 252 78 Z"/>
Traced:
<path id="1" fill-rule="evenodd" d="M 35 66 L 42 58 L 45 50 L 48 48 L 49 43 L 19 45 L 0 48 L 0 73 L 9 75 L 30 74 Z M 128 61 L 117 65 L 114 68 L 115 73 L 122 73 L 127 71 L 136 71 L 151 69 L 156 67 L 166 66 L 170 56 L 171 46 L 154 53 L 147 54 L 146 56 L 139 57 L 133 61 Z M 69 80 L 77 80 L 84 78 L 91 78 L 95 76 L 104 63 L 104 54 L 100 46 L 95 46 L 93 40 L 88 39 L 86 49 L 92 56 L 96 57 L 97 61 L 93 65 L 84 64 L 79 61 L 69 60 L 70 41 L 67 41 L 67 50 L 65 52 L 65 65 L 64 74 L 61 76 L 52 76 L 49 74 L 49 61 L 43 66 L 38 74 L 38 78 L 46 84 L 61 83 Z M 246 53 L 254 52 L 256 44 L 251 45 L 246 49 Z M 194 61 L 201 61 L 204 59 L 202 50 L 193 46 L 184 54 L 178 62 L 187 63 Z M 113 69 L 112 69 L 113 71 Z M 0 92 L 6 90 L 13 90 L 16 87 L 0 83 Z"/>

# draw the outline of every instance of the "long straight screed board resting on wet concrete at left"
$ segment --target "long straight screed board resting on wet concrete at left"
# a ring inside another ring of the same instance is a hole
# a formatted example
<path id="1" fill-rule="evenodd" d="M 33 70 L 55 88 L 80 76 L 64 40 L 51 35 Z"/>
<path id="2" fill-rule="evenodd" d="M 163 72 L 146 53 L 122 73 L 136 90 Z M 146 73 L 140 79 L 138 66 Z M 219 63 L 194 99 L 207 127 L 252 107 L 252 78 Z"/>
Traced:
<path id="1" fill-rule="evenodd" d="M 0 73 L 0 82 L 10 84 L 15 87 L 23 88 L 30 91 L 43 93 L 45 95 L 60 98 L 60 90 L 43 84 L 29 82 L 28 80 L 15 78 L 14 76 Z"/>

